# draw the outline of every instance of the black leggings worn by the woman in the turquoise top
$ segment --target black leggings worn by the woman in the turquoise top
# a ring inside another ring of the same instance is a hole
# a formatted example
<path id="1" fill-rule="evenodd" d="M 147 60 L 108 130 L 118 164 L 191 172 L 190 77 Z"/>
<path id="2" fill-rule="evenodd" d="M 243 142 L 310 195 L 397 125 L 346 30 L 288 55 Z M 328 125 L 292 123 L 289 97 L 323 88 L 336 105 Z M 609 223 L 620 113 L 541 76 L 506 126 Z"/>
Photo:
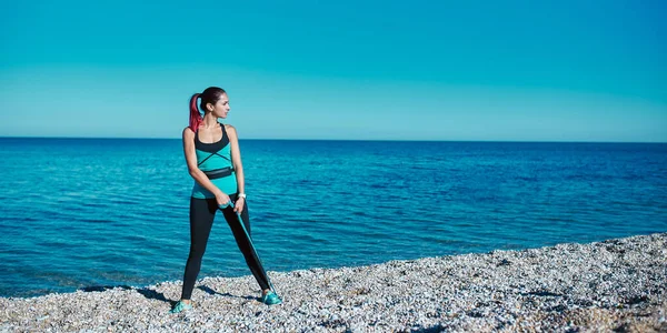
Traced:
<path id="1" fill-rule="evenodd" d="M 236 202 L 237 198 L 232 194 L 230 195 L 230 199 Z M 201 258 L 206 251 L 206 244 L 209 234 L 211 233 L 211 226 L 213 226 L 213 218 L 218 210 L 216 199 L 190 199 L 190 255 L 188 256 L 188 263 L 186 264 L 186 273 L 183 274 L 182 300 L 190 300 L 190 296 L 192 295 L 192 289 L 195 289 L 195 282 L 197 281 L 197 275 L 201 269 Z M 233 238 L 243 253 L 246 263 L 248 264 L 248 268 L 250 268 L 250 272 L 255 275 L 259 286 L 261 286 L 262 290 L 269 289 L 269 278 L 263 273 L 259 261 L 252 255 L 250 242 L 246 238 L 241 224 L 238 222 L 239 219 L 237 218 L 237 214 L 231 206 L 226 208 L 222 213 L 225 220 L 227 220 L 227 224 L 231 228 Z M 248 204 L 243 204 L 241 220 L 243 220 L 248 235 L 250 235 Z"/>

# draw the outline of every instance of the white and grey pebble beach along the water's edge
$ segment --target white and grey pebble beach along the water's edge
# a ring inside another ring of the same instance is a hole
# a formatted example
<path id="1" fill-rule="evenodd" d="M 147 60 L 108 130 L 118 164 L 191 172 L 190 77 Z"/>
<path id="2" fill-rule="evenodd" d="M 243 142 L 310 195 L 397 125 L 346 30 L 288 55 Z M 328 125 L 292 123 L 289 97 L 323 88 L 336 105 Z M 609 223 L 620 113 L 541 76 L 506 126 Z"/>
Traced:
<path id="1" fill-rule="evenodd" d="M 667 233 L 269 275 L 280 305 L 251 275 L 179 314 L 180 281 L 0 297 L 0 332 L 667 332 Z"/>

